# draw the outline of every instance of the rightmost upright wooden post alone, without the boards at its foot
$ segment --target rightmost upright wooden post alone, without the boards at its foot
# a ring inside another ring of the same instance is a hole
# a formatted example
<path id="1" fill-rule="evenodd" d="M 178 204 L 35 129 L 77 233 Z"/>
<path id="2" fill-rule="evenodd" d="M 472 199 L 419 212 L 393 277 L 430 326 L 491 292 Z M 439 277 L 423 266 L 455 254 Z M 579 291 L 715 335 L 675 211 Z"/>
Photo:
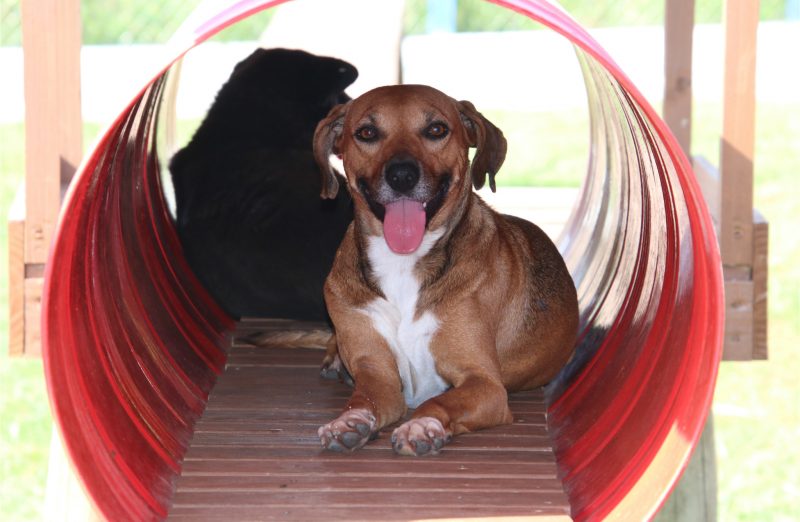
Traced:
<path id="1" fill-rule="evenodd" d="M 758 0 L 727 0 L 720 172 L 720 251 L 726 265 L 753 266 L 753 152 Z"/>

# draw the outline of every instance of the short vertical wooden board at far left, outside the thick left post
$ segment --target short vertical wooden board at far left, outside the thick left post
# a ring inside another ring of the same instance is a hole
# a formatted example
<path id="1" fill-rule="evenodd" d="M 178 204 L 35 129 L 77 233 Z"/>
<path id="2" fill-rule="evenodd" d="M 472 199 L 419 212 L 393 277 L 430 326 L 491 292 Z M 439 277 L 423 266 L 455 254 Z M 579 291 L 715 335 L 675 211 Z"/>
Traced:
<path id="1" fill-rule="evenodd" d="M 8 353 L 25 351 L 25 186 L 8 213 Z"/>

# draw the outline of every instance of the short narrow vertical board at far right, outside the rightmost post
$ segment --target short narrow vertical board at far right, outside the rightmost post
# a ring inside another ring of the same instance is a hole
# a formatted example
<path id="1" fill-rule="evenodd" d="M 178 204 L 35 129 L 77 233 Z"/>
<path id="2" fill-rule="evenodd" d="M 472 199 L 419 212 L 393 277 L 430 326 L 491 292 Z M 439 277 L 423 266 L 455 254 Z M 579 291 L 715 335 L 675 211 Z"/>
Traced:
<path id="1" fill-rule="evenodd" d="M 769 223 L 753 210 L 753 359 L 767 359 Z"/>

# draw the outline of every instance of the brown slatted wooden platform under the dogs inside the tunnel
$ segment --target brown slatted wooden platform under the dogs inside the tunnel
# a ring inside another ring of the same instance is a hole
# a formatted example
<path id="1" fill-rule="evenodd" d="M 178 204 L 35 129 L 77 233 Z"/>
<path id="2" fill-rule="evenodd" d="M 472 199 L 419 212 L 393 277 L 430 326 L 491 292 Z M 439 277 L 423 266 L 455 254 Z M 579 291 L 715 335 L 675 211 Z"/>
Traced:
<path id="1" fill-rule="evenodd" d="M 569 520 L 540 391 L 512 396 L 513 425 L 457 437 L 437 456 L 396 456 L 391 428 L 343 455 L 320 447 L 317 428 L 351 390 L 321 379 L 321 360 L 320 350 L 234 342 L 170 519 Z"/>

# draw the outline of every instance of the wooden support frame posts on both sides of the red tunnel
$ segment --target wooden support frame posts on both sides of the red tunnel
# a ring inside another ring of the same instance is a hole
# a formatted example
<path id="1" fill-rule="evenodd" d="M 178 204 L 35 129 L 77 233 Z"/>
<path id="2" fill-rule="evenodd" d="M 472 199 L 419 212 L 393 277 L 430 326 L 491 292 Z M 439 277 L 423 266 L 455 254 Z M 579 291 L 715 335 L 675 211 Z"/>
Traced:
<path id="1" fill-rule="evenodd" d="M 729 295 L 725 358 L 766 358 L 768 223 L 753 219 L 757 0 L 725 3 L 720 172 L 695 158 L 717 224 Z M 38 299 L 62 187 L 82 153 L 80 1 L 21 2 L 25 49 L 26 186 L 9 215 L 10 352 L 36 355 Z M 664 118 L 690 153 L 694 0 L 668 0 Z M 734 297 L 735 296 L 735 297 Z M 744 325 L 747 324 L 745 327 Z"/>

